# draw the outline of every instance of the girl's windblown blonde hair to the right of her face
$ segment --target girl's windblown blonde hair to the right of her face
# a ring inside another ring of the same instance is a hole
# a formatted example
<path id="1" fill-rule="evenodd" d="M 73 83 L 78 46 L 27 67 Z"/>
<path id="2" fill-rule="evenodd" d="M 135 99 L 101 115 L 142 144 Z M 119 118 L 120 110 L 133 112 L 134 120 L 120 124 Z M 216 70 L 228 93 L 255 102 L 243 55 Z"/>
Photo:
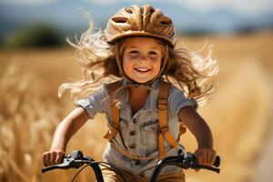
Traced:
<path id="1" fill-rule="evenodd" d="M 205 57 L 186 48 L 169 49 L 168 53 L 169 59 L 163 72 L 167 82 L 183 89 L 188 98 L 196 99 L 198 106 L 205 105 L 217 90 L 218 65 L 217 60 L 211 57 L 211 47 L 208 47 Z"/>

